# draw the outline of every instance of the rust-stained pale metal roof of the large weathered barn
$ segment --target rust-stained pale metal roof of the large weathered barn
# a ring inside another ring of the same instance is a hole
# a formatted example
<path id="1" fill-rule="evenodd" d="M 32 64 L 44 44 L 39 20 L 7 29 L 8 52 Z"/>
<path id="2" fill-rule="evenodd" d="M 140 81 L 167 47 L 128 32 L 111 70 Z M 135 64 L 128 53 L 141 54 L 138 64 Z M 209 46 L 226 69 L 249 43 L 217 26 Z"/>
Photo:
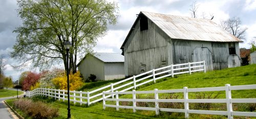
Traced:
<path id="1" fill-rule="evenodd" d="M 132 28 L 136 25 L 140 15 L 145 15 L 148 19 L 152 20 L 172 40 L 183 39 L 214 42 L 243 42 L 239 38 L 219 27 L 212 20 L 201 18 L 140 12 Z M 129 38 L 132 30 L 133 29 L 130 30 L 129 34 L 125 38 L 122 47 Z"/>

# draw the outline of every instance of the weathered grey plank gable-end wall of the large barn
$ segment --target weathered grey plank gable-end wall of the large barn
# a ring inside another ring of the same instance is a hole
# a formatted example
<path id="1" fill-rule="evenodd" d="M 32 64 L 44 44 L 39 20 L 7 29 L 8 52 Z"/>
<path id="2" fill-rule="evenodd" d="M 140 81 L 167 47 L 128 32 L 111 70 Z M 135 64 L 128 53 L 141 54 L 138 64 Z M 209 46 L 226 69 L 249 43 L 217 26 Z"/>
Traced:
<path id="1" fill-rule="evenodd" d="M 138 20 L 124 46 L 125 76 L 172 64 L 172 45 L 168 39 L 151 20 L 148 20 L 148 30 L 140 31 Z"/>

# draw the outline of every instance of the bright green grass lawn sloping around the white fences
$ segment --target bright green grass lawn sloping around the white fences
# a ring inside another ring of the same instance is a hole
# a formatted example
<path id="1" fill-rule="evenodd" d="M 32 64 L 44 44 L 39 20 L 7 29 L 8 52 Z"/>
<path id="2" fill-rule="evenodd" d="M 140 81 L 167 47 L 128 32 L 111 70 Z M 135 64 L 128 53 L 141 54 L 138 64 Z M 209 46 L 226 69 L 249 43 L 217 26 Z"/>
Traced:
<path id="1" fill-rule="evenodd" d="M 113 81 L 116 82 L 116 81 Z M 113 83 L 106 82 L 106 83 Z M 214 70 L 207 73 L 193 73 L 192 75 L 183 74 L 177 75 L 175 78 L 167 77 L 157 81 L 158 83 L 146 84 L 142 87 L 138 87 L 137 90 L 154 90 L 155 88 L 161 89 L 181 89 L 183 87 L 188 88 L 199 88 L 199 87 L 216 87 L 216 86 L 225 86 L 225 84 L 232 85 L 249 85 L 256 84 L 256 64 L 241 66 L 236 68 L 227 68 L 223 70 Z M 94 89 L 102 87 L 103 82 L 94 82 L 86 84 L 86 87 L 93 87 Z M 83 89 L 86 89 L 83 87 Z M 82 90 L 83 90 L 82 89 Z M 89 88 L 87 88 L 89 89 Z M 87 90 L 86 89 L 86 90 Z M 231 91 L 232 98 L 256 98 L 256 90 L 238 90 Z M 203 92 L 202 92 L 203 93 Z M 205 92 L 206 95 L 210 92 Z M 219 93 L 216 91 L 214 94 Z M 197 93 L 189 92 L 189 99 L 195 99 L 198 96 Z M 131 98 L 131 96 L 119 96 L 119 98 Z M 144 98 L 143 95 L 140 98 Z M 182 97 L 181 97 L 182 98 Z M 220 92 L 218 98 L 225 98 L 225 92 Z M 57 118 L 66 118 L 67 117 L 67 101 L 62 102 L 53 101 L 53 100 L 42 100 L 40 98 L 34 98 L 33 100 L 41 100 L 47 102 L 49 105 L 59 109 L 59 116 Z M 13 100 L 8 100 L 8 103 L 12 103 Z M 114 102 L 107 102 L 115 104 Z M 106 107 L 105 110 L 102 109 L 102 102 L 92 104 L 90 107 L 84 105 L 73 106 L 71 102 L 71 116 L 72 118 L 184 118 L 184 113 L 170 113 L 170 112 L 160 112 L 160 115 L 156 116 L 155 111 L 143 111 L 137 110 L 136 113 L 133 113 L 132 109 L 120 109 L 116 111 L 115 108 Z M 120 105 L 123 103 L 120 102 Z M 214 106 L 210 110 L 225 110 L 225 104 L 213 104 Z M 184 108 L 184 107 L 183 107 Z M 189 103 L 189 108 L 193 109 L 193 104 Z M 233 104 L 234 111 L 249 111 L 247 104 Z M 254 110 L 255 112 L 255 110 Z M 223 115 L 207 115 L 207 114 L 190 114 L 190 119 L 194 118 L 227 118 Z M 234 118 L 248 118 L 245 116 L 235 116 Z M 256 118 L 256 117 L 251 117 Z"/>

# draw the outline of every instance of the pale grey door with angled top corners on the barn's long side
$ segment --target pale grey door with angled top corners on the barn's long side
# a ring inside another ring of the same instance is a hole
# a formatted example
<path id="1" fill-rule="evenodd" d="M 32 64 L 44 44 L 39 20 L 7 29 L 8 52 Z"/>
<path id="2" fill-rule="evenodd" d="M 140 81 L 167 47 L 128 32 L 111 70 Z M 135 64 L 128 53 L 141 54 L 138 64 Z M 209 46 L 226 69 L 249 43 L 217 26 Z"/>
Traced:
<path id="1" fill-rule="evenodd" d="M 193 51 L 193 62 L 205 61 L 206 70 L 213 70 L 212 54 L 207 47 L 196 47 Z"/>

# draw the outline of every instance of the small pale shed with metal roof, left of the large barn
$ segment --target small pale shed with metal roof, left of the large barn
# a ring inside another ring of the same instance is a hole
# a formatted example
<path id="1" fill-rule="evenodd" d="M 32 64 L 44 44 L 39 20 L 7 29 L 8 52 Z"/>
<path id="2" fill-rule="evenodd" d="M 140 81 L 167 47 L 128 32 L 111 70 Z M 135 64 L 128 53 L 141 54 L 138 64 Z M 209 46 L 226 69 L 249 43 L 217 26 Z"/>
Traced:
<path id="1" fill-rule="evenodd" d="M 125 78 L 124 56 L 118 53 L 87 54 L 77 67 L 84 78 L 91 74 L 103 81 Z"/>

